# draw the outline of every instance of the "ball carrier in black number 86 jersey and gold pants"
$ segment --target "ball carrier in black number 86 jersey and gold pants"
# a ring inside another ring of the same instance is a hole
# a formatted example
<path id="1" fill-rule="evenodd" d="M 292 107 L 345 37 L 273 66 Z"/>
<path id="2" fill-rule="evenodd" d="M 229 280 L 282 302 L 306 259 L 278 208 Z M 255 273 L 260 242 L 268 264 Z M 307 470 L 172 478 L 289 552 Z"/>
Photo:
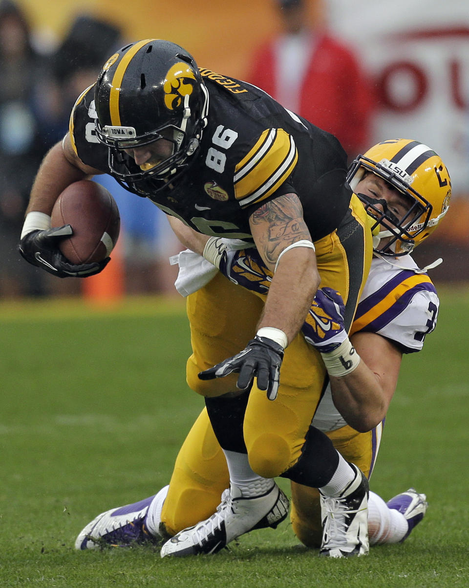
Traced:
<path id="1" fill-rule="evenodd" d="M 104 268 L 107 260 L 70 264 L 58 242 L 73 227 L 50 228 L 63 189 L 97 173 L 150 198 L 171 217 L 182 242 L 188 226 L 254 243 L 274 272 L 265 303 L 222 276 L 191 295 L 187 381 L 205 396 L 225 452 L 245 455 L 266 479 L 257 503 L 249 489 L 239 495 L 232 489 L 236 505 L 253 505 L 252 516 L 244 517 L 249 528 L 272 522 L 273 512 L 274 522 L 286 516 L 286 499 L 271 480 L 282 475 L 359 510 L 347 519 L 356 532 L 344 550 L 363 554 L 367 482 L 309 427 L 325 368 L 298 334 L 319 283 L 341 293 L 350 328 L 369 270 L 372 235 L 345 181 L 346 167 L 346 154 L 329 133 L 255 86 L 197 68 L 180 46 L 145 39 L 116 52 L 77 99 L 69 133 L 36 177 L 20 252 L 59 277 Z M 338 373 L 347 373 L 354 359 L 353 348 L 340 355 Z M 236 517 L 230 524 L 230 539 L 248 530 L 238 529 Z M 202 552 L 213 549 L 206 539 Z"/>

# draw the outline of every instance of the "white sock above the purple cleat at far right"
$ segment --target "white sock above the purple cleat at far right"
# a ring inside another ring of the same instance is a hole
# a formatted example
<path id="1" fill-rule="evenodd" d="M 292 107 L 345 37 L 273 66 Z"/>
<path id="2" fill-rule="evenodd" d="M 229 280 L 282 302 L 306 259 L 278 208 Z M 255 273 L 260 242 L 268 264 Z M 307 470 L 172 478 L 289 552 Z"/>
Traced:
<path id="1" fill-rule="evenodd" d="M 409 530 L 406 517 L 390 509 L 382 497 L 370 491 L 368 499 L 368 535 L 370 545 L 399 543 Z"/>

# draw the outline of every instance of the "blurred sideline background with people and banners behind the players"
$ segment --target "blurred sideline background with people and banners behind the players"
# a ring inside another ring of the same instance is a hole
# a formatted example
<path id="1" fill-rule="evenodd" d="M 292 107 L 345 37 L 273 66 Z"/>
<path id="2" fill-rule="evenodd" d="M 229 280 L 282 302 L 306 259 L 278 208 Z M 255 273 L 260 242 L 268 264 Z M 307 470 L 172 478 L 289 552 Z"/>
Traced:
<path id="1" fill-rule="evenodd" d="M 29 189 L 68 129 L 77 96 L 127 42 L 163 38 L 198 65 L 264 88 L 335 133 L 349 154 L 412 138 L 448 166 L 447 218 L 416 250 L 442 257 L 434 282 L 469 279 L 469 11 L 447 0 L 0 0 L 0 300 L 174 290 L 181 249 L 150 201 L 106 185 L 122 232 L 110 263 L 86 280 L 53 278 L 16 251 Z"/>

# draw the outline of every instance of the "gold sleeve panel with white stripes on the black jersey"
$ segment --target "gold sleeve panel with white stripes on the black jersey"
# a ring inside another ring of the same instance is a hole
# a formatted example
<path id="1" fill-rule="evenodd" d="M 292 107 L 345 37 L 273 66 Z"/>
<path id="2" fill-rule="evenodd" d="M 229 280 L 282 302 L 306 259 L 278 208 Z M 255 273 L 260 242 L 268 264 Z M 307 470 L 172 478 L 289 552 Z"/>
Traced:
<path id="1" fill-rule="evenodd" d="M 235 196 L 241 207 L 268 198 L 295 169 L 298 151 L 284 129 L 266 129 L 235 168 Z"/>

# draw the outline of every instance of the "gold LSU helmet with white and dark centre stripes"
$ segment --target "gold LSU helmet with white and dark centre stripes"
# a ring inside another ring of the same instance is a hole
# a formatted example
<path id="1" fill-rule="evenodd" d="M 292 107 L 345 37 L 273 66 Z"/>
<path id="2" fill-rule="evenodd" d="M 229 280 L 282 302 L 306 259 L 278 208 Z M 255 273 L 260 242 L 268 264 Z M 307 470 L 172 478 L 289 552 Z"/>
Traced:
<path id="1" fill-rule="evenodd" d="M 402 219 L 397 219 L 384 201 L 379 201 L 381 210 L 376 199 L 360 194 L 357 185 L 366 172 L 375 173 L 406 196 L 409 210 Z M 352 162 L 347 181 L 373 219 L 373 250 L 381 255 L 410 253 L 433 233 L 450 205 L 451 179 L 446 165 L 433 149 L 412 139 L 377 143 Z M 380 240 L 388 237 L 380 246 Z"/>

